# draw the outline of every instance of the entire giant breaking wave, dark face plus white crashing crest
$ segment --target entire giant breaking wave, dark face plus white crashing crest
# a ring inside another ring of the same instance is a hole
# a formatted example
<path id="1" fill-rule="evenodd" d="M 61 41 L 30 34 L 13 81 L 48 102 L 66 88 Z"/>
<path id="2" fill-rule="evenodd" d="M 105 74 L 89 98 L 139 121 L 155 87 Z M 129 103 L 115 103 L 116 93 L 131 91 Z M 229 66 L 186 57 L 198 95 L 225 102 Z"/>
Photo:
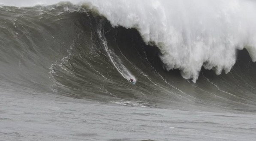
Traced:
<path id="1" fill-rule="evenodd" d="M 256 24 L 247 14 L 254 2 L 143 2 L 0 6 L 1 86 L 122 105 L 255 111 Z M 213 67 L 230 72 L 206 70 Z"/>

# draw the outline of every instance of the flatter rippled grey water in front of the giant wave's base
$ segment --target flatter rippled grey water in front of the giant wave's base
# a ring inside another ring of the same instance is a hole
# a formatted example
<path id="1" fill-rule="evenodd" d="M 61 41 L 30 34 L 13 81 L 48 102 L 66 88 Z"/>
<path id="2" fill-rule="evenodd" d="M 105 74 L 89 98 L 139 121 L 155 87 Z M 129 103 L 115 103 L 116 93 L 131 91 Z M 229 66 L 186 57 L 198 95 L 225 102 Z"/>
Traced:
<path id="1" fill-rule="evenodd" d="M 255 114 L 131 107 L 52 95 L 0 98 L 3 141 L 255 139 Z"/>

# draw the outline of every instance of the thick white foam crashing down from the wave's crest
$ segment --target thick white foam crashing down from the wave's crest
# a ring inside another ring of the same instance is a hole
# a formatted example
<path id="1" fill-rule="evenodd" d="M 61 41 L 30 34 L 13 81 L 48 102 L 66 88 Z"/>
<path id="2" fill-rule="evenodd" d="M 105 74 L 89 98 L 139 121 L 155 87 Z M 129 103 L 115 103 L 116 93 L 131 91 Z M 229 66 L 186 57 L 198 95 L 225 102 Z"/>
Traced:
<path id="1" fill-rule="evenodd" d="M 113 26 L 136 28 L 160 48 L 167 70 L 195 82 L 201 67 L 230 71 L 245 46 L 256 61 L 256 2 L 252 0 L 84 0 Z"/>

